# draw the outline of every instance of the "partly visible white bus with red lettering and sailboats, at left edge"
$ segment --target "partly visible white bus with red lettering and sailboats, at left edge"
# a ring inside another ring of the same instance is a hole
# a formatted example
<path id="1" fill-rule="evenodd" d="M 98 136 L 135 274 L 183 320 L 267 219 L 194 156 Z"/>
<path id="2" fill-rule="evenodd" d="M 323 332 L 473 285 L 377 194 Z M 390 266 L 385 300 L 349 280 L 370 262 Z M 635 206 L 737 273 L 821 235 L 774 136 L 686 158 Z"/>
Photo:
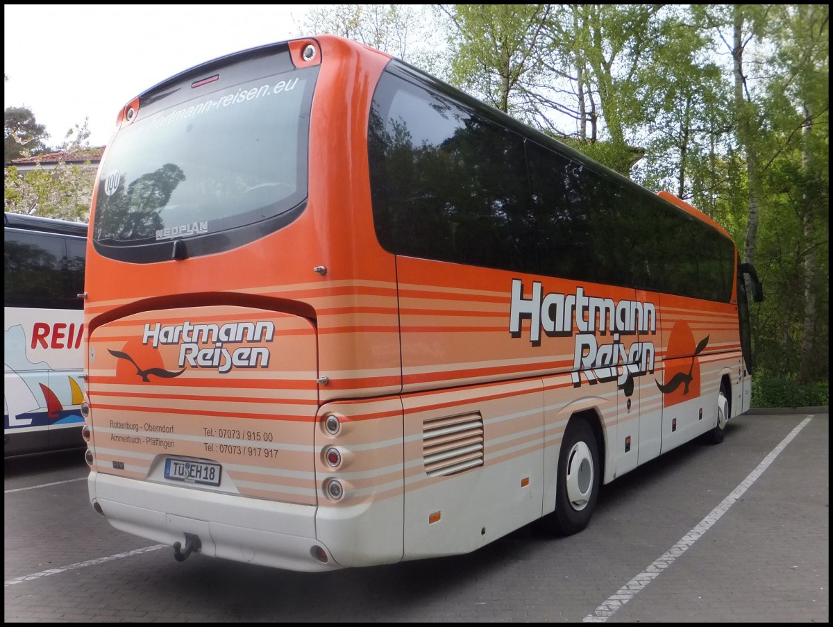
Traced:
<path id="1" fill-rule="evenodd" d="M 82 447 L 87 224 L 3 218 L 3 456 Z"/>

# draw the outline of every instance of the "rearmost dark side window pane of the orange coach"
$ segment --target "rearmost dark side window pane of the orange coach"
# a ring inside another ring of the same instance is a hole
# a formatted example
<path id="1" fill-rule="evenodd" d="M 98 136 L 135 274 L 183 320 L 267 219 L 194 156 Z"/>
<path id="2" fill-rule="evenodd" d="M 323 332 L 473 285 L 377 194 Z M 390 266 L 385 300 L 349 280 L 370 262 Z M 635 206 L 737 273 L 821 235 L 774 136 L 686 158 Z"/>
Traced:
<path id="1" fill-rule="evenodd" d="M 537 271 L 516 133 L 386 74 L 368 148 L 374 223 L 388 252 Z"/>

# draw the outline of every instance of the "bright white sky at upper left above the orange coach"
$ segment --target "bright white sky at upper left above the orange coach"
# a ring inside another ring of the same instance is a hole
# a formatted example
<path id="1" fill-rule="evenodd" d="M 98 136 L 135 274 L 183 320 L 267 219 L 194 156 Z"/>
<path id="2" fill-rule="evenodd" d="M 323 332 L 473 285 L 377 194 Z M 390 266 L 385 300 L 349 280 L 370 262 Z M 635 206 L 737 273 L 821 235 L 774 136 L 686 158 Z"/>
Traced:
<path id="1" fill-rule="evenodd" d="M 49 146 L 88 118 L 89 144 L 104 146 L 119 110 L 145 89 L 224 54 L 297 37 L 316 6 L 5 4 L 3 108 L 29 108 Z"/>

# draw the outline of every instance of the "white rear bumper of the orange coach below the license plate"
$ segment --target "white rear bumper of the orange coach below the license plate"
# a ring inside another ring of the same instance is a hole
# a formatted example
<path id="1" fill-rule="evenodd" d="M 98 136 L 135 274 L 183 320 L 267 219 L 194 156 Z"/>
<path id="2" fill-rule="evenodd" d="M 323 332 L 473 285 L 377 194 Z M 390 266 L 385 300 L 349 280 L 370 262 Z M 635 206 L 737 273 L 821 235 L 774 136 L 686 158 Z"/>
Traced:
<path id="1" fill-rule="evenodd" d="M 343 568 L 315 534 L 317 508 L 154 484 L 91 471 L 91 504 L 120 531 L 173 545 L 185 534 L 210 557 L 307 572 Z M 129 504 L 128 504 L 129 503 Z M 172 549 L 173 553 L 173 549 Z M 327 562 L 317 558 L 326 554 Z"/>

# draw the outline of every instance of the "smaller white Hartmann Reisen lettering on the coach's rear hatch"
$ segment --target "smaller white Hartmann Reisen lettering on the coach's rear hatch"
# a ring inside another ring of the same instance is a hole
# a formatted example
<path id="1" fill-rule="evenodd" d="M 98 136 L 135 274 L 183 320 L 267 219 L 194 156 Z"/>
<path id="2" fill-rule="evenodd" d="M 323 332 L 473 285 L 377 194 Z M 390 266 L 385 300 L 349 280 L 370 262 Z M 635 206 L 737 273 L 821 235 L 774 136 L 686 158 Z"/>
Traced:
<path id="1" fill-rule="evenodd" d="M 270 353 L 265 346 L 236 346 L 272 342 L 275 324 L 232 322 L 226 324 L 145 324 L 142 344 L 158 348 L 161 344 L 178 344 L 180 368 L 216 369 L 220 374 L 233 368 L 268 368 Z M 208 345 L 207 345 L 208 344 Z"/>

